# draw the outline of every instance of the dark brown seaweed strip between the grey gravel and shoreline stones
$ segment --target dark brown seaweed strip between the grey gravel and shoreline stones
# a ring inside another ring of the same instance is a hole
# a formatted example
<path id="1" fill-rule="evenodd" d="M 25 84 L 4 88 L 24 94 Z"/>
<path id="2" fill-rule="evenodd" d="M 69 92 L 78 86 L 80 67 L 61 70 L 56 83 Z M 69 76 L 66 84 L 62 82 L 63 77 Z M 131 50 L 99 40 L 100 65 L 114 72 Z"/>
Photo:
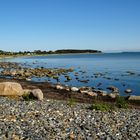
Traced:
<path id="1" fill-rule="evenodd" d="M 114 104 L 116 99 L 110 98 L 109 96 L 89 96 L 87 94 L 82 94 L 79 92 L 67 91 L 65 89 L 57 89 L 56 84 L 52 84 L 49 82 L 33 82 L 26 80 L 15 80 L 9 78 L 0 78 L 0 82 L 17 82 L 21 84 L 23 89 L 41 89 L 45 99 L 52 100 L 62 100 L 68 101 L 69 99 L 74 99 L 77 103 L 85 103 L 85 104 L 93 104 L 94 102 L 104 102 Z M 120 96 L 120 95 L 119 95 Z M 129 95 L 128 95 L 129 96 Z M 128 98 L 124 97 L 124 98 Z M 120 96 L 121 97 L 121 96 Z M 140 101 L 129 101 L 130 108 L 138 108 L 140 109 Z"/>

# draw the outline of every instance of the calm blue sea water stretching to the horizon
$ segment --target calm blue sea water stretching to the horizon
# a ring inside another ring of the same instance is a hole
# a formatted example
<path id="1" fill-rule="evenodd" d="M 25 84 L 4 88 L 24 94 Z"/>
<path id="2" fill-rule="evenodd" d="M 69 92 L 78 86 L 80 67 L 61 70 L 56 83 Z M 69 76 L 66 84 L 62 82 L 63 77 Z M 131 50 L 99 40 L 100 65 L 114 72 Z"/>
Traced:
<path id="1" fill-rule="evenodd" d="M 30 67 L 46 68 L 74 68 L 70 82 L 65 82 L 63 76 L 60 77 L 62 84 L 70 86 L 90 86 L 106 90 L 110 85 L 118 87 L 122 95 L 126 95 L 124 90 L 130 88 L 132 94 L 140 95 L 140 53 L 106 53 L 106 54 L 68 54 L 34 56 L 8 59 L 6 61 L 20 62 Z M 33 62 L 35 62 L 33 64 Z M 84 71 L 84 72 L 81 72 Z M 129 74 L 131 71 L 134 74 Z M 75 79 L 75 72 L 78 72 L 80 80 L 89 80 L 87 83 L 78 82 Z M 103 75 L 99 75 L 102 73 Z M 46 78 L 33 78 L 34 81 L 47 81 Z M 56 80 L 50 79 L 56 83 Z"/>

